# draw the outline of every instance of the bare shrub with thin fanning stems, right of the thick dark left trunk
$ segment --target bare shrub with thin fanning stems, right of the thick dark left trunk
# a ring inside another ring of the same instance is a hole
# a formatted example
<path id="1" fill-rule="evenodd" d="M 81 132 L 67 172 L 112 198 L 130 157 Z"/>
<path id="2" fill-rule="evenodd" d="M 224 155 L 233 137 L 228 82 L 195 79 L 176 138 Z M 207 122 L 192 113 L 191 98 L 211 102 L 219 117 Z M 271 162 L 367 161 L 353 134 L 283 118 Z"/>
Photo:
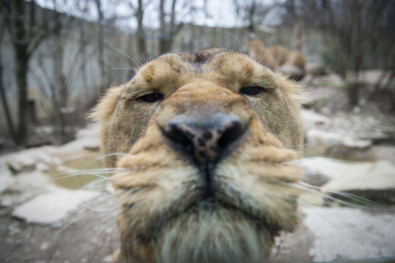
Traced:
<path id="1" fill-rule="evenodd" d="M 40 69 L 40 74 L 33 74 L 33 79 L 42 94 L 43 108 L 55 128 L 58 142 L 63 144 L 74 138 L 69 117 L 76 109 L 70 104 L 71 95 L 76 91 L 78 80 L 83 78 L 85 62 L 96 53 L 86 52 L 85 41 L 73 41 L 77 19 L 60 14 L 54 22 L 61 23 L 61 29 L 48 40 L 48 49 L 40 50 L 33 60 Z"/>

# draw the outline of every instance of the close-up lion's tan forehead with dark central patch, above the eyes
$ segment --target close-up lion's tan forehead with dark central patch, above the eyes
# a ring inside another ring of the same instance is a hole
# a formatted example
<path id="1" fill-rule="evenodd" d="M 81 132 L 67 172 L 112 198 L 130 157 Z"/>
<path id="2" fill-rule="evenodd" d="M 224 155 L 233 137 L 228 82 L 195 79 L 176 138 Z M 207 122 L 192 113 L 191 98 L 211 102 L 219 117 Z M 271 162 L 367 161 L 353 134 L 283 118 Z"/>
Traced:
<path id="1" fill-rule="evenodd" d="M 191 81 L 208 80 L 229 89 L 273 78 L 273 72 L 240 52 L 211 48 L 165 54 L 141 67 L 134 78 L 143 86 L 171 89 Z"/>

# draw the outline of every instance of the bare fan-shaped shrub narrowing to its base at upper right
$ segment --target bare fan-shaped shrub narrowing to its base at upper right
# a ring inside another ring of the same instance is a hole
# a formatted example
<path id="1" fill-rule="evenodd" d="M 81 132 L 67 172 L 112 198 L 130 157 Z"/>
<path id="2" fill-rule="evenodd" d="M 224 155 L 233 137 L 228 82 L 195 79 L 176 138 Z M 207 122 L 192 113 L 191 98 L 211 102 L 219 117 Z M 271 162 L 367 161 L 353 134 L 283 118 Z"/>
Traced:
<path id="1" fill-rule="evenodd" d="M 379 29 L 390 0 L 325 1 L 324 28 L 333 43 L 326 60 L 346 84 L 351 106 L 358 104 L 361 70 Z M 349 71 L 352 71 L 350 74 Z"/>

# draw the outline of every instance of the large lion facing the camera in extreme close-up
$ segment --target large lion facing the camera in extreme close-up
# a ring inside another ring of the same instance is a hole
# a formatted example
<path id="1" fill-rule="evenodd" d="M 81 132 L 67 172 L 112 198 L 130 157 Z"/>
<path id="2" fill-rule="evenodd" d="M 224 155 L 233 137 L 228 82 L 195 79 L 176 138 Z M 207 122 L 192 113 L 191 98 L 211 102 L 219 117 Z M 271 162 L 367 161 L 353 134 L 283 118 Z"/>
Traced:
<path id="1" fill-rule="evenodd" d="M 113 262 L 262 262 L 298 223 L 302 90 L 235 50 L 165 54 L 92 117 L 120 204 Z"/>

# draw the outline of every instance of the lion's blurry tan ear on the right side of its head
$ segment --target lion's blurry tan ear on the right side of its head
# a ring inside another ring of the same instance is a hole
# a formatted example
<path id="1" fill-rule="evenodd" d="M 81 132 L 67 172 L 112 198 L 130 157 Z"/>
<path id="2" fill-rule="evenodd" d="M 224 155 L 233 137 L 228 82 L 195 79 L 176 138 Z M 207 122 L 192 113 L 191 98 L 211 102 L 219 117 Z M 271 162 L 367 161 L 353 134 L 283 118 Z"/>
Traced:
<path id="1" fill-rule="evenodd" d="M 280 87 L 289 101 L 296 107 L 308 101 L 307 92 L 302 85 L 294 80 L 290 80 L 282 73 L 275 73 L 279 81 Z"/>

